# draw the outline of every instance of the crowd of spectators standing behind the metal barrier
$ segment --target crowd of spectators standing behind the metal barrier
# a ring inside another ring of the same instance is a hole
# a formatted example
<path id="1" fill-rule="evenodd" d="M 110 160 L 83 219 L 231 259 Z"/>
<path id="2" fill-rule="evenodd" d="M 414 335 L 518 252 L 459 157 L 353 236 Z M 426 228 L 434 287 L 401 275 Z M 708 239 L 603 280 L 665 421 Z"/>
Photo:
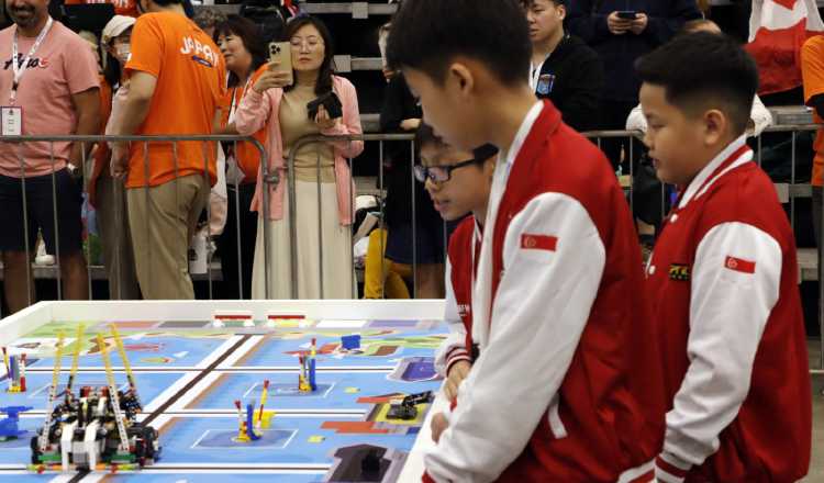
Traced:
<path id="1" fill-rule="evenodd" d="M 346 159 L 357 157 L 364 144 L 325 142 L 296 150 L 304 136 L 363 133 L 356 88 L 335 74 L 334 38 L 320 19 L 299 14 L 286 21 L 292 12 L 283 9 L 263 18 L 260 10 L 246 16 L 207 8 L 194 13 L 188 0 L 114 0 L 116 15 L 99 38 L 86 36 L 83 43 L 58 20 L 47 20 L 48 0 L 4 2 L 8 19 L 0 22 L 14 25 L 0 31 L 7 64 L 0 97 L 7 103 L 19 85 L 12 105 L 25 111 L 23 134 L 254 136 L 269 161 L 261 167 L 259 150 L 245 142 L 207 148 L 198 142 L 0 144 L 0 223 L 19 227 L 0 236 L 12 312 L 36 299 L 34 284 L 26 282 L 32 280 L 26 257 L 40 238 L 58 258 L 63 297 L 88 297 L 82 191 L 97 212 L 112 299 L 194 297 L 189 259 L 199 229 L 213 238 L 221 260 L 220 297 L 357 296 L 350 245 L 355 187 Z M 720 33 L 703 20 L 706 5 L 695 0 L 520 2 L 533 44 L 524 72 L 530 87 L 581 132 L 645 132 L 635 59 L 679 32 Z M 381 50 L 390 29 L 379 32 Z M 269 63 L 269 40 L 290 43 L 291 71 Z M 10 68 L 14 46 L 18 60 L 27 63 L 19 79 Z M 32 69 L 38 59 L 43 68 Z M 808 70 L 813 78 L 813 68 Z M 385 68 L 383 76 L 381 132 L 415 132 L 423 112 L 403 75 Z M 330 92 L 341 112 L 333 116 L 321 105 L 310 113 L 307 104 Z M 820 97 L 811 88 L 808 101 L 820 109 Z M 750 134 L 770 122 L 756 98 Z M 604 141 L 602 149 L 617 170 L 635 161 L 625 141 Z M 286 182 L 290 157 L 294 220 Z M 366 297 L 444 295 L 452 226 L 442 223 L 423 186 L 410 182 L 416 158 L 410 143 L 386 145 L 386 225 L 372 234 L 380 249 L 370 247 L 367 260 L 381 269 L 367 274 Z M 264 182 L 264 170 L 280 181 Z M 76 180 L 82 172 L 85 188 Z M 393 267 L 404 282 L 387 293 Z"/>

